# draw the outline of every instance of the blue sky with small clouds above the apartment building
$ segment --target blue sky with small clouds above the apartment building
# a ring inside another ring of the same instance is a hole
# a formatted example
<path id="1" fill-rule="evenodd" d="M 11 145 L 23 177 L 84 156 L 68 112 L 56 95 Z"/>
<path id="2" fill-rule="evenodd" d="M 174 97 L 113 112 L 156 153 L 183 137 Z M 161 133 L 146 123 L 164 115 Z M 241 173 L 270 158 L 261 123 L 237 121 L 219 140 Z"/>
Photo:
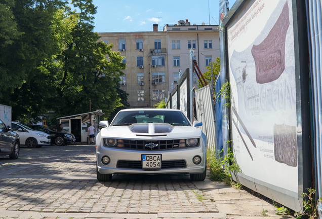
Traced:
<path id="1" fill-rule="evenodd" d="M 229 8 L 235 1 L 229 1 Z M 94 15 L 95 32 L 153 31 L 154 23 L 162 31 L 165 24 L 186 19 L 191 25 L 203 22 L 218 25 L 219 0 L 93 0 L 93 3 L 98 7 Z"/>

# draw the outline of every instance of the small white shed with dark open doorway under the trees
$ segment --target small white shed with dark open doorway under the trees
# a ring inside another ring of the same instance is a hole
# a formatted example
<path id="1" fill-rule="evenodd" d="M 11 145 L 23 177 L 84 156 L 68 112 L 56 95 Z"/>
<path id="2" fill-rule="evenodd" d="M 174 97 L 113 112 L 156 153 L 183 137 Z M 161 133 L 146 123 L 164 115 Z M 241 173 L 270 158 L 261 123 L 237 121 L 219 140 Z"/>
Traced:
<path id="1" fill-rule="evenodd" d="M 95 136 L 98 133 L 98 123 L 99 117 L 105 115 L 102 113 L 101 109 L 98 109 L 94 112 L 77 114 L 72 116 L 60 117 L 59 123 L 62 124 L 62 132 L 65 133 L 72 133 L 75 138 L 76 142 L 87 142 L 87 128 L 90 125 L 90 121 L 92 125 L 95 127 Z"/>

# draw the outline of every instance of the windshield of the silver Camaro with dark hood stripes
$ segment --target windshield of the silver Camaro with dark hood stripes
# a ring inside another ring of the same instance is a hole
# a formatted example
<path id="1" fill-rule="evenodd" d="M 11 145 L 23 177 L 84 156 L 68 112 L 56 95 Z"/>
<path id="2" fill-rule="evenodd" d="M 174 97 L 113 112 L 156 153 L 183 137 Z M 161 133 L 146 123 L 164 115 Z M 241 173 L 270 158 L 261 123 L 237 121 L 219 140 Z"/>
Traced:
<path id="1" fill-rule="evenodd" d="M 167 123 L 174 126 L 191 126 L 180 111 L 123 111 L 119 112 L 111 126 L 132 125 L 134 123 Z"/>

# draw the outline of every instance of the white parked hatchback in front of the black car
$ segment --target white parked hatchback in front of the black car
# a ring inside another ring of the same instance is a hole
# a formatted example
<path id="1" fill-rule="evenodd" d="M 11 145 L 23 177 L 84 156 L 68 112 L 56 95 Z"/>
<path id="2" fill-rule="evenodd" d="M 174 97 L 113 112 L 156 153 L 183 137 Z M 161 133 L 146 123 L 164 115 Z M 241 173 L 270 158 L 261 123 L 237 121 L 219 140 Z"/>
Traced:
<path id="1" fill-rule="evenodd" d="M 19 134 L 20 143 L 28 148 L 40 148 L 44 144 L 50 144 L 49 134 L 35 131 L 19 122 L 11 122 L 11 129 Z"/>

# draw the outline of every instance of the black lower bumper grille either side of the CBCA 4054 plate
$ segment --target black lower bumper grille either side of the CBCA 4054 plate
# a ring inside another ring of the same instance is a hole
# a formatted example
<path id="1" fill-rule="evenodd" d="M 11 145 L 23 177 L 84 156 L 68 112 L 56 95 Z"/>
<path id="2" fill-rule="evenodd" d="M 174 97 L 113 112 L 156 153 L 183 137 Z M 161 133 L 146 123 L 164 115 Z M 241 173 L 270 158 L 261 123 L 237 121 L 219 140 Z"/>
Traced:
<path id="1" fill-rule="evenodd" d="M 128 168 L 128 169 L 142 169 L 142 162 L 120 160 L 117 162 L 116 167 Z M 186 167 L 187 167 L 187 164 L 184 160 L 162 161 L 161 163 L 161 169 L 186 168 Z"/>

